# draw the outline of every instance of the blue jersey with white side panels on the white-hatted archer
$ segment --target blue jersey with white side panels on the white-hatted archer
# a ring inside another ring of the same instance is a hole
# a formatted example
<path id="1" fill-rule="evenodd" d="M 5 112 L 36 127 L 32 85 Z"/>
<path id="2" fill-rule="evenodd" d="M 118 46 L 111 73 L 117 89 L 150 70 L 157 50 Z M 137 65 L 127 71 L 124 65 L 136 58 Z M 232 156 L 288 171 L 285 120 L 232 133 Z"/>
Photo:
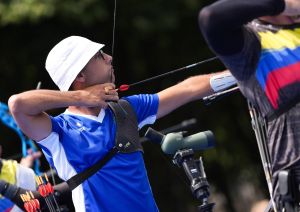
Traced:
<path id="1" fill-rule="evenodd" d="M 141 128 L 152 124 L 157 95 L 126 98 Z M 68 180 L 103 158 L 114 146 L 116 125 L 110 109 L 98 117 L 66 112 L 52 117 L 53 132 L 39 141 L 47 160 L 63 180 Z M 158 211 L 142 152 L 116 154 L 96 174 L 72 191 L 76 211 Z"/>

